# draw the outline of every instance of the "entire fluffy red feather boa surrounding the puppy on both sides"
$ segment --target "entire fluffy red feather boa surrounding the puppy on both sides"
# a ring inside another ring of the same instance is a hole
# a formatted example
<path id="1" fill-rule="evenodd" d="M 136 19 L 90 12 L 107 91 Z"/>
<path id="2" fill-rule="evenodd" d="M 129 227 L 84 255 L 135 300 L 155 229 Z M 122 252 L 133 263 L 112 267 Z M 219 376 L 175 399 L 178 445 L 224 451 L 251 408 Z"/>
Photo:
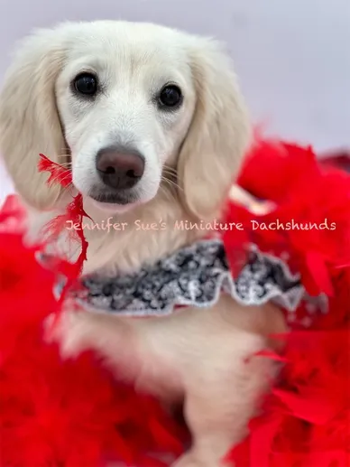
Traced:
<path id="1" fill-rule="evenodd" d="M 43 161 L 41 169 L 57 178 L 60 167 Z M 345 467 L 350 462 L 349 176 L 318 165 L 310 148 L 263 141 L 249 154 L 239 182 L 277 204 L 255 222 L 319 225 L 327 219 L 336 229 L 252 231 L 248 211 L 232 204 L 227 210 L 227 222 L 245 226 L 224 232 L 234 269 L 237 251 L 253 241 L 276 256 L 288 252 L 290 267 L 299 270 L 309 294 L 329 297 L 329 312 L 311 328 L 296 327 L 283 336 L 282 357 L 266 356 L 285 362 L 282 378 L 264 400 L 263 414 L 252 420 L 249 437 L 228 459 L 237 467 Z M 81 198 L 68 215 L 81 221 Z M 57 220 L 56 228 L 66 219 Z M 62 262 L 55 273 L 36 260 L 42 245 L 24 246 L 21 231 L 14 229 L 14 221 L 22 220 L 10 198 L 0 213 L 0 466 L 97 467 L 110 460 L 166 465 L 157 459 L 179 455 L 183 433 L 157 401 L 115 382 L 92 353 L 62 362 L 57 346 L 42 339 L 43 320 L 60 312 L 52 293 L 56 273 L 73 280 L 87 245 L 82 244 L 77 265 Z M 304 316 L 303 307 L 298 313 Z"/>

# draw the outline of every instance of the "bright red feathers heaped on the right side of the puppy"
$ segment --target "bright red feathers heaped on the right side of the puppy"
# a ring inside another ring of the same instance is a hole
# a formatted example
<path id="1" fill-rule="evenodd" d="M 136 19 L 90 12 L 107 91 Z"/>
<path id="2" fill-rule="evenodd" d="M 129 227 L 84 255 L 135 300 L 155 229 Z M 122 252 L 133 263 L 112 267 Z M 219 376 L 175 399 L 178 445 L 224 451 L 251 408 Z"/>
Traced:
<path id="1" fill-rule="evenodd" d="M 263 177 L 258 174 L 263 173 Z M 346 467 L 350 462 L 350 176 L 329 161 L 318 163 L 310 147 L 275 141 L 254 146 L 240 176 L 244 189 L 274 201 L 260 218 L 231 203 L 227 222 L 244 224 L 244 242 L 282 257 L 301 273 L 311 295 L 327 294 L 328 313 L 316 315 L 308 331 L 287 336 L 281 379 L 266 398 L 263 415 L 229 459 L 236 467 Z M 279 220 L 335 229 L 252 229 Z M 235 266 L 237 243 L 224 232 Z M 235 245 L 235 250 L 232 246 Z M 308 315 L 299 306 L 299 320 Z M 292 323 L 291 323 L 292 325 Z M 269 357 L 267 355 L 267 357 Z M 274 358 L 272 356 L 272 358 Z"/>

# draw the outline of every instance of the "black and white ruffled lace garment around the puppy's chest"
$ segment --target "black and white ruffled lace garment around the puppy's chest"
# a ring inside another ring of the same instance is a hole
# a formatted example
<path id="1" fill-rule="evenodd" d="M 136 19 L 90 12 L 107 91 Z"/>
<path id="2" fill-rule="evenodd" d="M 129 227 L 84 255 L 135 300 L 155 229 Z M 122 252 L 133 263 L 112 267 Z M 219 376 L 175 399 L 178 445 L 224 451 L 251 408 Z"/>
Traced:
<path id="1" fill-rule="evenodd" d="M 245 305 L 272 300 L 291 314 L 305 299 L 299 275 L 257 248 L 234 278 L 220 239 L 198 241 L 132 275 L 86 277 L 83 285 L 86 293 L 80 300 L 89 309 L 131 316 L 163 315 L 179 306 L 207 307 L 222 293 Z"/>

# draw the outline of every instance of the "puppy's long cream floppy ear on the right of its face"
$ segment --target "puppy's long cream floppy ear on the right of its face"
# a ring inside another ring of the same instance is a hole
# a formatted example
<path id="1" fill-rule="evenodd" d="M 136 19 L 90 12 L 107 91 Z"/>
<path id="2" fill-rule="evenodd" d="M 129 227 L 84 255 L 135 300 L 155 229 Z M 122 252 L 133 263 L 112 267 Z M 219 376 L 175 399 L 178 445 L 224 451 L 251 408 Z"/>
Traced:
<path id="1" fill-rule="evenodd" d="M 220 44 L 199 40 L 191 65 L 197 104 L 180 150 L 178 182 L 191 214 L 210 219 L 235 181 L 251 132 L 235 73 Z"/>

